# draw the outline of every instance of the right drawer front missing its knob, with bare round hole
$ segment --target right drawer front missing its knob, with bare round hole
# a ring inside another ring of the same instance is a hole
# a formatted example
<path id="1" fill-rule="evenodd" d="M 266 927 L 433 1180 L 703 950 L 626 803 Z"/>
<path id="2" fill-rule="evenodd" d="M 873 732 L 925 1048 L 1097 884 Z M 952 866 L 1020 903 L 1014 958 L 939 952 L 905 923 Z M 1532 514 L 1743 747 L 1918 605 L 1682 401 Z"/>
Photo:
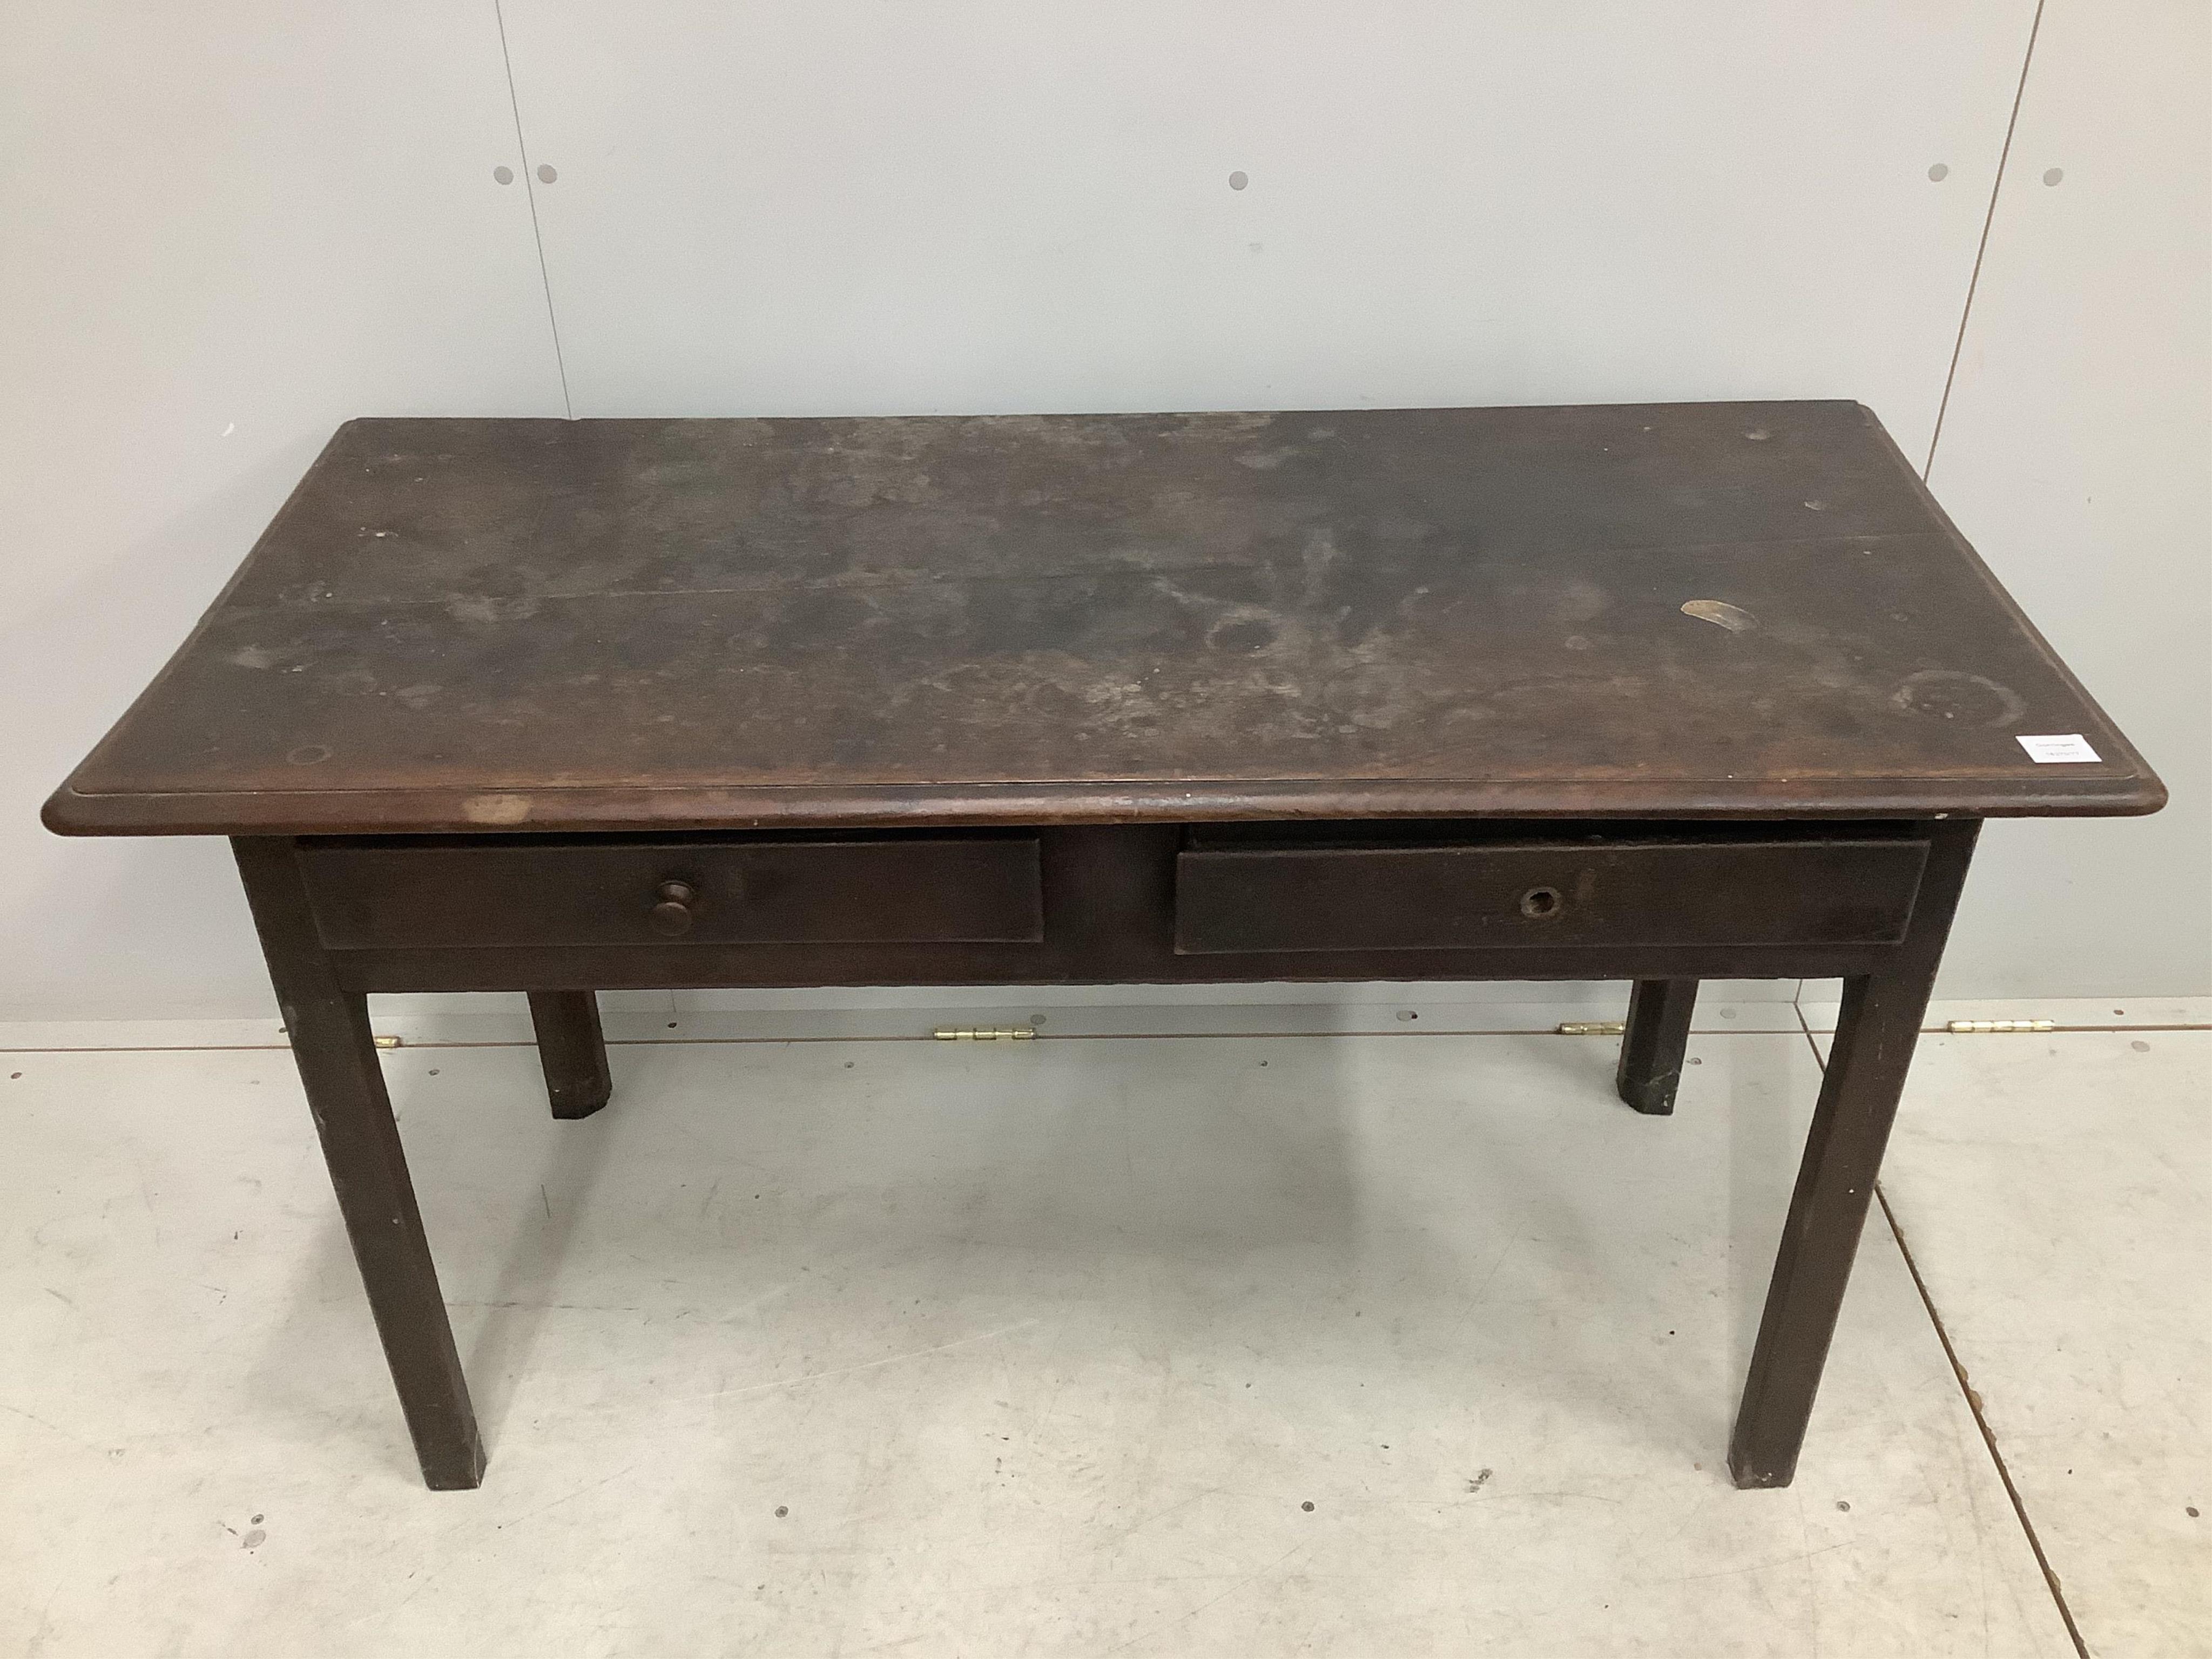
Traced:
<path id="1" fill-rule="evenodd" d="M 1175 949 L 1882 945 L 1924 841 L 1183 849 Z"/>

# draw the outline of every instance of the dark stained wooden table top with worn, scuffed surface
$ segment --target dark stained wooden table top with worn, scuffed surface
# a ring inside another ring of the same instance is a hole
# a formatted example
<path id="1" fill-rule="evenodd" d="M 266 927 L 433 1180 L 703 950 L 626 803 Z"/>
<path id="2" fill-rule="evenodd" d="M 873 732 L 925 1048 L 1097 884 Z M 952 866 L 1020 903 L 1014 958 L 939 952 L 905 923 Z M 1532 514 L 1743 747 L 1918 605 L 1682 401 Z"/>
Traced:
<path id="1" fill-rule="evenodd" d="M 354 420 L 46 823 L 2163 794 L 1854 403 Z"/>

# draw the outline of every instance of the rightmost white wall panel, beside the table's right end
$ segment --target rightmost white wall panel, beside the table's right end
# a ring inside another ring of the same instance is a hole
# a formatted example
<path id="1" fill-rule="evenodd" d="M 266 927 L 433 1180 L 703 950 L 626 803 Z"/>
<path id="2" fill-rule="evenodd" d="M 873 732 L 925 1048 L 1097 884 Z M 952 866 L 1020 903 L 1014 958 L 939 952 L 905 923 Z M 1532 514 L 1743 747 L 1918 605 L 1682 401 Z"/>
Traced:
<path id="1" fill-rule="evenodd" d="M 1989 825 L 1944 991 L 2212 991 L 2201 0 L 2048 0 L 1929 482 L 2172 790 L 2154 818 Z"/>

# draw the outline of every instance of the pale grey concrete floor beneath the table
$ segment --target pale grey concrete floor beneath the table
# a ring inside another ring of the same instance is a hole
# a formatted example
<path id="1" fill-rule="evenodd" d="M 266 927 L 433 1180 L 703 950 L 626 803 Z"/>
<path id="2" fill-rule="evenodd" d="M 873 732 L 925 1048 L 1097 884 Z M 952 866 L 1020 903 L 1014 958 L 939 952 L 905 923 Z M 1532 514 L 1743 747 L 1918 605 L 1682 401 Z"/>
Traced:
<path id="1" fill-rule="evenodd" d="M 2064 1610 L 1882 1219 L 1725 1480 L 1803 1033 L 403 1048 L 478 1493 L 283 1051 L 4 1055 L 0 1652 L 2203 1652 L 2212 1033 L 2008 1042 L 1889 1197 Z"/>

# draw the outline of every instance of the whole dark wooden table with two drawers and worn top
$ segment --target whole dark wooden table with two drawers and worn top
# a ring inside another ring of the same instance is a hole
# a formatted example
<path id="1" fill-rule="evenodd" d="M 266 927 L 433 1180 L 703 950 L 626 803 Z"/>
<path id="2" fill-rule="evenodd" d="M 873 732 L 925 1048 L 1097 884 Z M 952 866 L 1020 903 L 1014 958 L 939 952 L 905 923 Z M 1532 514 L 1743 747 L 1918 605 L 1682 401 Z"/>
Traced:
<path id="1" fill-rule="evenodd" d="M 431 1486 L 369 1035 L 606 987 L 1843 978 L 1730 1447 L 1787 1484 L 1980 821 L 2163 787 L 1851 403 L 354 420 L 46 805 L 221 834 Z"/>

